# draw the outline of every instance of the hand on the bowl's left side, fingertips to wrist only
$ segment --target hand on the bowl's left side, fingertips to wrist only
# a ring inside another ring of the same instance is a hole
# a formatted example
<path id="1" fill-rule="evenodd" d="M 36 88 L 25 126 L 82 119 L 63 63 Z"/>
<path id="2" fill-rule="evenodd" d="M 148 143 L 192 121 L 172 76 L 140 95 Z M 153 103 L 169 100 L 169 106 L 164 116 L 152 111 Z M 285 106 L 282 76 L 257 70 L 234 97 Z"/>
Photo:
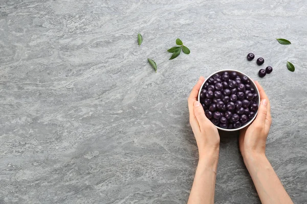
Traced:
<path id="1" fill-rule="evenodd" d="M 220 147 L 220 136 L 214 124 L 205 116 L 204 109 L 199 101 L 197 101 L 199 90 L 205 79 L 200 78 L 194 86 L 188 98 L 190 124 L 199 148 L 200 160 L 206 155 L 218 157 Z"/>

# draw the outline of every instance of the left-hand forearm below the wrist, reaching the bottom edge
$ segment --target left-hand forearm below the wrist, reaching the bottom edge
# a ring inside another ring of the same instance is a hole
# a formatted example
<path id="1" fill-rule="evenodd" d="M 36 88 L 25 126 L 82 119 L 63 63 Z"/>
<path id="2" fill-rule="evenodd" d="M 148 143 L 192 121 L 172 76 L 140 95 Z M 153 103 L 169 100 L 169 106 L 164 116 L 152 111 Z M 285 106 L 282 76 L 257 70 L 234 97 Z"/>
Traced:
<path id="1" fill-rule="evenodd" d="M 188 204 L 214 202 L 218 149 L 200 157 Z"/>

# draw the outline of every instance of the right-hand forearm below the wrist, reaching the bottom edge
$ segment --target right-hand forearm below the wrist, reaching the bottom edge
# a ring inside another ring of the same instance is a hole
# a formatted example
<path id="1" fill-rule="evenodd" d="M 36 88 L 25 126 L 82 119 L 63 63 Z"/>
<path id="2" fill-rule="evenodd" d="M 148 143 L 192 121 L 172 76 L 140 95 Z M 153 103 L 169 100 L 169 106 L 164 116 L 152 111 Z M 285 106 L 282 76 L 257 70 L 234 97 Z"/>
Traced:
<path id="1" fill-rule="evenodd" d="M 244 163 L 252 177 L 261 203 L 293 203 L 265 155 L 248 155 Z"/>

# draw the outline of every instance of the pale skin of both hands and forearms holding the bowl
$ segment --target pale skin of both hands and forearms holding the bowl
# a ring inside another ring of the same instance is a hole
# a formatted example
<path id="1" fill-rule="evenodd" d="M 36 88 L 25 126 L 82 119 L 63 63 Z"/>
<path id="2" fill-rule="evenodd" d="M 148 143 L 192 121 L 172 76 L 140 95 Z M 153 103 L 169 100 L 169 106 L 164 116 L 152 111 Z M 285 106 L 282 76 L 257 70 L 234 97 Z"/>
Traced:
<path id="1" fill-rule="evenodd" d="M 220 136 L 197 100 L 204 81 L 201 77 L 188 98 L 190 124 L 199 149 L 199 162 L 188 204 L 214 203 Z M 256 81 L 255 84 L 260 93 L 260 106 L 256 119 L 240 131 L 239 148 L 261 203 L 293 203 L 266 157 L 266 141 L 272 123 L 270 101 L 260 84 Z"/>

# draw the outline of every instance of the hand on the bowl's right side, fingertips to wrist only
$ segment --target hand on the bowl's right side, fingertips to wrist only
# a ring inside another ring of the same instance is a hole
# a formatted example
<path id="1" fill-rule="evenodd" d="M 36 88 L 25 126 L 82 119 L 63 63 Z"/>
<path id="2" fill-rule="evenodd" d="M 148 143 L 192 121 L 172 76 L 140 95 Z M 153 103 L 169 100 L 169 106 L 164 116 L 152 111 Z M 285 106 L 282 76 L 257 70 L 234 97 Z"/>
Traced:
<path id="1" fill-rule="evenodd" d="M 255 81 L 260 93 L 260 106 L 256 119 L 240 131 L 239 146 L 244 159 L 250 155 L 265 156 L 266 141 L 272 123 L 270 101 L 265 90 Z"/>

